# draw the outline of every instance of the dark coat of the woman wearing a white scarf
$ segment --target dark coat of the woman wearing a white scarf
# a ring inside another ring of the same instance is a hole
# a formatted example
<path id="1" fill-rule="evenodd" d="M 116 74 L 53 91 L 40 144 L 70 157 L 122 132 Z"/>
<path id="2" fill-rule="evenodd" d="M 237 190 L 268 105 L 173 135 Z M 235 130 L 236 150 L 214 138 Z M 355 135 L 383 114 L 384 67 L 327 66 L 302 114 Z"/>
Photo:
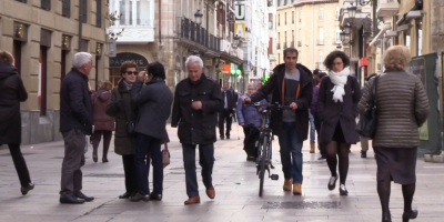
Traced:
<path id="1" fill-rule="evenodd" d="M 322 78 L 317 98 L 317 113 L 322 121 L 320 140 L 322 143 L 330 142 L 337 122 L 341 122 L 345 142 L 355 144 L 360 141 L 360 135 L 355 131 L 355 118 L 357 117 L 357 103 L 361 99 L 361 87 L 355 77 L 349 75 L 344 85 L 343 102 L 333 101 L 333 87 L 330 77 Z"/>

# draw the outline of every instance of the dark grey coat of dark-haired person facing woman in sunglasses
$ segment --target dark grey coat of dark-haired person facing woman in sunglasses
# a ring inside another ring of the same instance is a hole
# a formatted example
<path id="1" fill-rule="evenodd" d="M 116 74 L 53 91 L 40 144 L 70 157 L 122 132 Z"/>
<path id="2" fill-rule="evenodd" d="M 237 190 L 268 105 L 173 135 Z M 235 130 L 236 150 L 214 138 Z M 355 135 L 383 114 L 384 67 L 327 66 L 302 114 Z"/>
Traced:
<path id="1" fill-rule="evenodd" d="M 173 93 L 163 80 L 151 80 L 142 87 L 143 83 L 137 80 L 131 88 L 131 101 L 140 105 L 135 132 L 163 140 Z"/>

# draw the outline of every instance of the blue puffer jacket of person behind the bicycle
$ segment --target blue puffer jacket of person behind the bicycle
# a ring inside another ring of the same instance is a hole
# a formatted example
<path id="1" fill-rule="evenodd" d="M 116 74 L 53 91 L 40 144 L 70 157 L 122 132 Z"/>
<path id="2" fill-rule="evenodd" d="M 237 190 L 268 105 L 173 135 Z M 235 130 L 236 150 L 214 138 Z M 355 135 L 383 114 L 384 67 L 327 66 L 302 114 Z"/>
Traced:
<path id="1" fill-rule="evenodd" d="M 244 97 L 250 97 L 249 94 L 245 94 L 238 100 L 238 109 L 236 109 L 236 114 L 238 114 L 238 122 L 239 123 L 244 123 L 244 128 L 246 128 L 249 124 L 253 124 L 254 127 L 259 128 L 261 127 L 262 123 L 262 115 L 258 111 L 255 107 L 252 105 L 246 105 L 242 103 L 242 99 Z M 261 100 L 261 103 L 266 103 L 265 100 Z"/>

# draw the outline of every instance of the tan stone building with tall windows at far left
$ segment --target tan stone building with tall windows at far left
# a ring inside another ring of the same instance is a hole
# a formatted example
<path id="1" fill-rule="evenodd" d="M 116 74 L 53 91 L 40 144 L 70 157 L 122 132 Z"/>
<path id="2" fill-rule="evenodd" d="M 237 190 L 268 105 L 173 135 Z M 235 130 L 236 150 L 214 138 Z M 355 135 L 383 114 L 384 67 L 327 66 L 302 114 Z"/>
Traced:
<path id="1" fill-rule="evenodd" d="M 14 56 L 29 93 L 21 104 L 22 144 L 62 139 L 59 133 L 60 83 L 71 69 L 75 52 L 88 51 L 94 57 L 89 75 L 93 89 L 97 79 L 108 79 L 105 2 L 0 1 L 0 49 Z"/>

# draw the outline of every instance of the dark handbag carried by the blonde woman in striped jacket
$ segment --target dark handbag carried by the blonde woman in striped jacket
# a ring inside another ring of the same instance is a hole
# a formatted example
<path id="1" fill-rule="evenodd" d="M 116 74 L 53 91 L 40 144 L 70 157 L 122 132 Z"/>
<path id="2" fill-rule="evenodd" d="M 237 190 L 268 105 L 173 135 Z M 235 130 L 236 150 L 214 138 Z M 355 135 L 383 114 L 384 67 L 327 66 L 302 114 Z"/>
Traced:
<path id="1" fill-rule="evenodd" d="M 372 92 L 370 93 L 370 98 L 367 104 L 365 105 L 365 111 L 361 115 L 360 121 L 356 124 L 356 132 L 363 138 L 373 139 L 376 132 L 377 124 L 377 82 L 380 80 L 380 75 L 377 75 L 372 85 Z"/>

